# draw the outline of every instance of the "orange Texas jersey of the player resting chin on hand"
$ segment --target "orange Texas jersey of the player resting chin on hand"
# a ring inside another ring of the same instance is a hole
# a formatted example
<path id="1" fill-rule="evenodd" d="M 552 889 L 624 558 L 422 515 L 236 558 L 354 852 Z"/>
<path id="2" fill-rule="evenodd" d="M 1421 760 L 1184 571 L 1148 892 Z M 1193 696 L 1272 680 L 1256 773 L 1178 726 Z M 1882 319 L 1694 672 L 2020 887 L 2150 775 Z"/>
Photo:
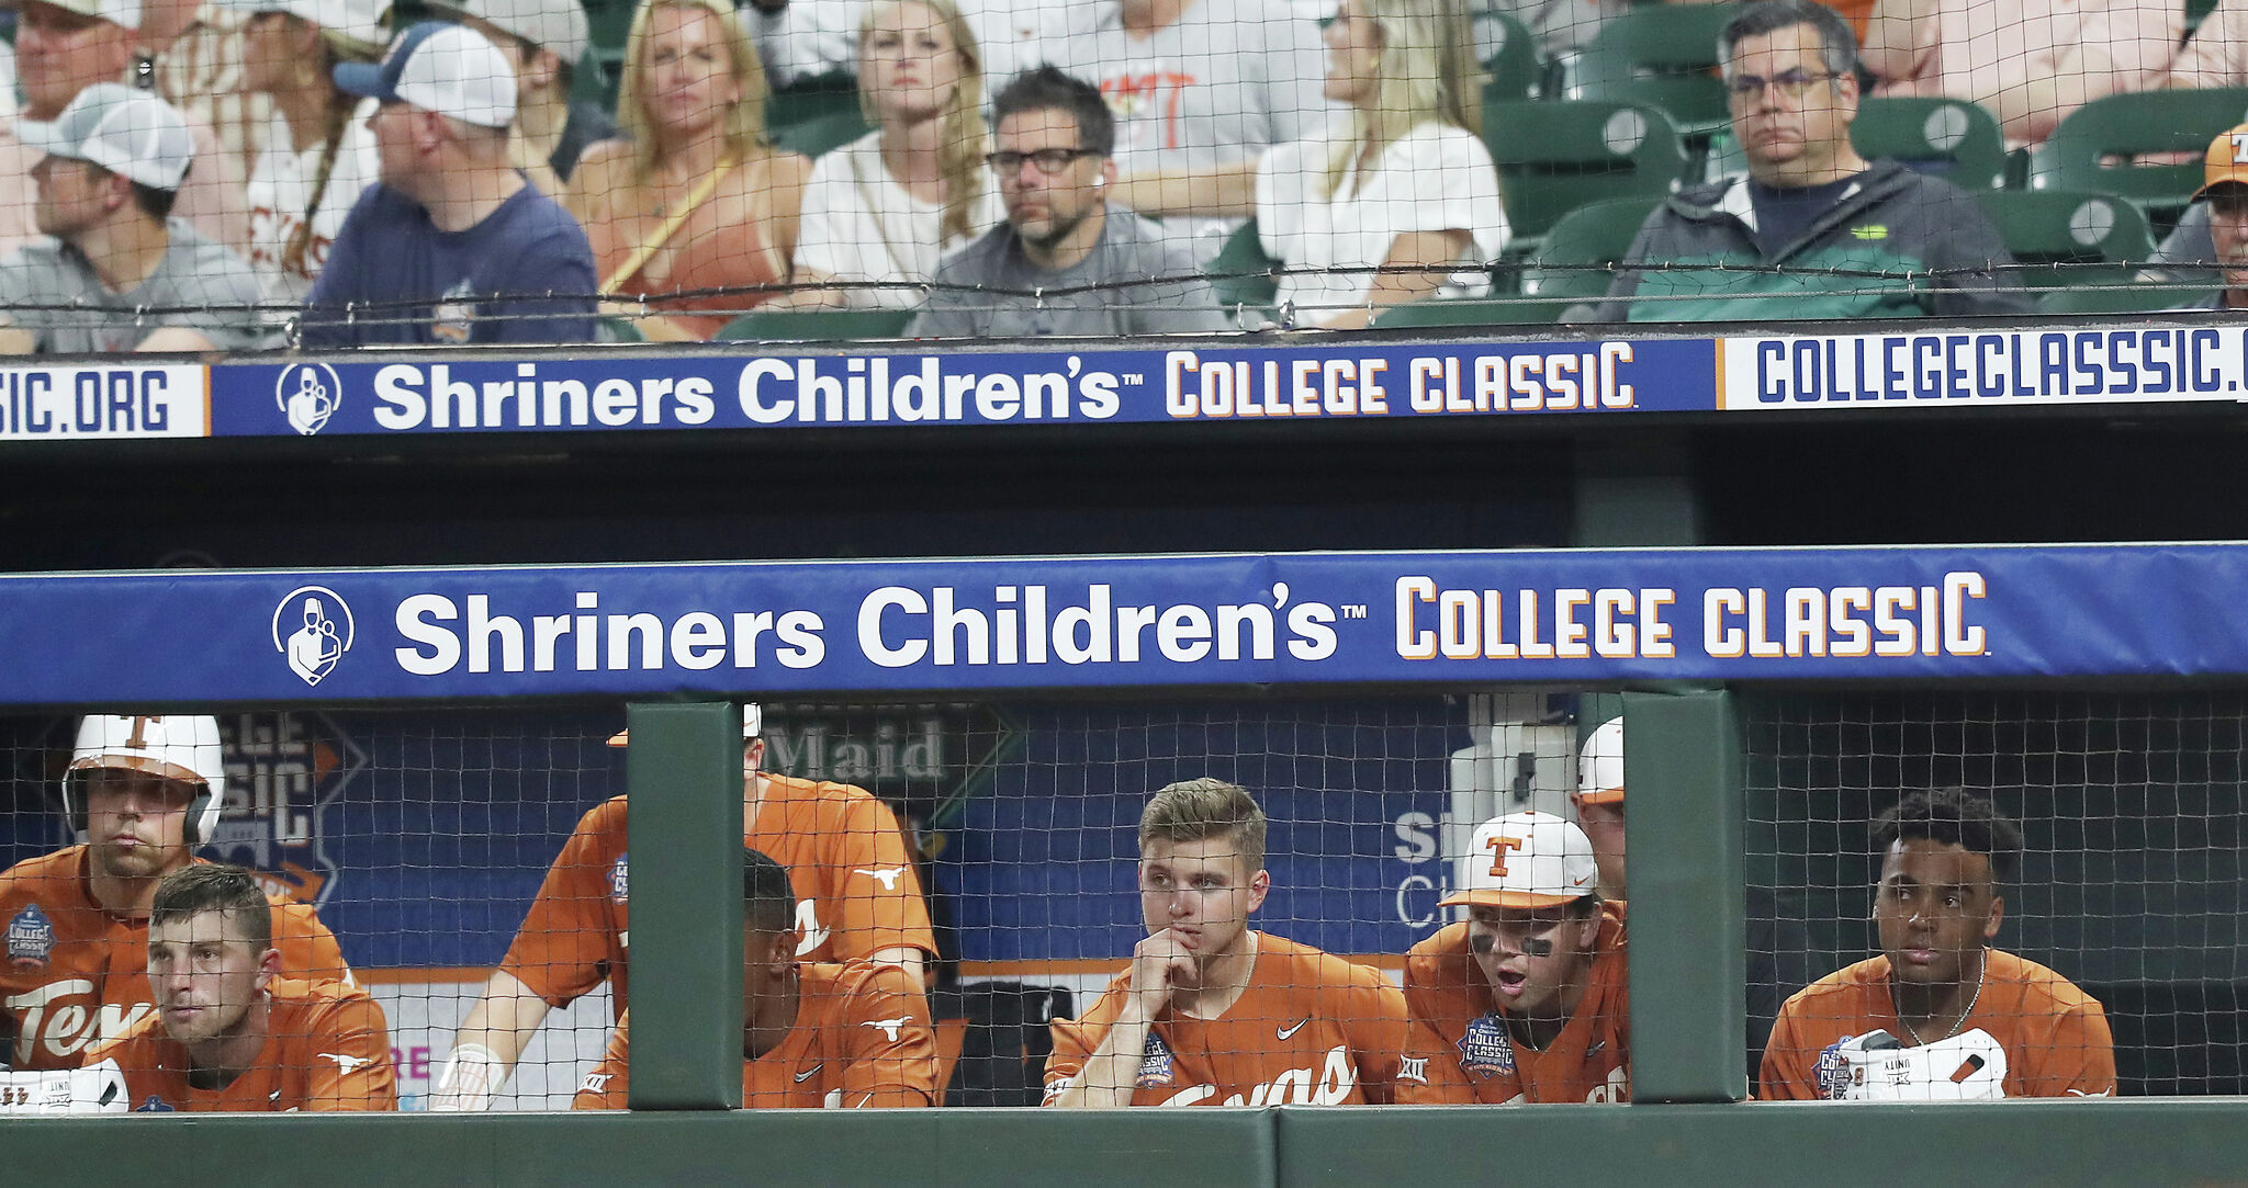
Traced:
<path id="1" fill-rule="evenodd" d="M 1250 984 L 1216 1020 L 1155 1015 L 1133 1105 L 1385 1105 L 1434 1100 L 1434 1038 L 1380 972 L 1257 932 Z M 1054 1103 L 1124 1013 L 1131 970 L 1077 1020 L 1054 1020 Z"/>

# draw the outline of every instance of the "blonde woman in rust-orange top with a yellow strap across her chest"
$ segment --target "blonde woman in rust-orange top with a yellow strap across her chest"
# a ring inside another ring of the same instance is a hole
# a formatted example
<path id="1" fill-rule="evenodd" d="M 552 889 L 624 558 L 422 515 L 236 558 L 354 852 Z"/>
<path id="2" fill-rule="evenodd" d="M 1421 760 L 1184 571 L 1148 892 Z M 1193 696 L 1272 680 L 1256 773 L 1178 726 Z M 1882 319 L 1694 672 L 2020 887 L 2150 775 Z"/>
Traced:
<path id="1" fill-rule="evenodd" d="M 708 339 L 789 278 L 812 162 L 771 146 L 764 101 L 764 67 L 731 2 L 641 4 L 616 99 L 629 139 L 587 148 L 564 204 L 593 245 L 602 292 L 623 299 L 609 312 L 650 339 Z"/>

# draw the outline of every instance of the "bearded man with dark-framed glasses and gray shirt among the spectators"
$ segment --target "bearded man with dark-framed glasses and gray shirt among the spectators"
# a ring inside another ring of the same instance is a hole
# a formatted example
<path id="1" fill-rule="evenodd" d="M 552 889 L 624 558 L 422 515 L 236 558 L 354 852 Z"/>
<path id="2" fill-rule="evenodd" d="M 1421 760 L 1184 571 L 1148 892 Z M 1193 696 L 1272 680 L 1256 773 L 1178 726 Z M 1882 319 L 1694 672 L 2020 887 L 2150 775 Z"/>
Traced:
<path id="1" fill-rule="evenodd" d="M 1050 65 L 994 99 L 1007 222 L 937 265 L 906 335 L 1027 339 L 1227 330 L 1194 258 L 1111 207 L 1115 121 L 1090 83 Z M 1063 290 L 1063 292 L 1054 292 Z"/>

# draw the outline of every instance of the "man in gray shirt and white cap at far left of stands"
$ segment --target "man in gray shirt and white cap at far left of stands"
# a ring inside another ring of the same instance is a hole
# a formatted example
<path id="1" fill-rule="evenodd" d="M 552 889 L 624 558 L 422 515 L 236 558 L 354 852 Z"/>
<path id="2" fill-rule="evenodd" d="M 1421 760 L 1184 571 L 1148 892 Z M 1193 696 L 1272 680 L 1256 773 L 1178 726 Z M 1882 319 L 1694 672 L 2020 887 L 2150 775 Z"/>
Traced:
<path id="1" fill-rule="evenodd" d="M 0 353 L 268 346 L 250 265 L 171 218 L 196 155 L 171 103 L 94 83 L 18 132 L 45 153 L 34 216 L 54 238 L 0 263 Z"/>

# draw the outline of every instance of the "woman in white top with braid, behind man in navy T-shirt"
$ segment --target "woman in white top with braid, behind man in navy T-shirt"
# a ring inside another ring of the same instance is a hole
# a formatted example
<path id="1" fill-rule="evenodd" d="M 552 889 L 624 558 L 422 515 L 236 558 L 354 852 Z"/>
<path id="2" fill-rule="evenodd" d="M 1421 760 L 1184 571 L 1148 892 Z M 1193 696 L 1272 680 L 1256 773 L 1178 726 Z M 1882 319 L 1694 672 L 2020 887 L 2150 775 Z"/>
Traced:
<path id="1" fill-rule="evenodd" d="M 250 168 L 250 267 L 274 303 L 303 303 L 360 191 L 375 182 L 375 132 L 337 90 L 335 63 L 382 54 L 380 0 L 234 0 L 243 90 L 272 97 Z"/>

